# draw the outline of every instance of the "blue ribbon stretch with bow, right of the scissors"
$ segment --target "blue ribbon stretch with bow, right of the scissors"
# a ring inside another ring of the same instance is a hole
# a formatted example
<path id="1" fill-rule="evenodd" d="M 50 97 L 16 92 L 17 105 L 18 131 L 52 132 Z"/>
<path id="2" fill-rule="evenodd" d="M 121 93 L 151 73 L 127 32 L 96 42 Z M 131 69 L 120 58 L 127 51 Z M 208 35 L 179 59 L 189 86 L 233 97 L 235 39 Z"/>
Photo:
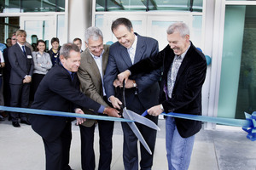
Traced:
<path id="1" fill-rule="evenodd" d="M 183 119 L 189 119 L 194 121 L 201 122 L 214 122 L 218 124 L 230 125 L 234 127 L 242 127 L 242 129 L 247 132 L 247 139 L 252 141 L 256 140 L 256 111 L 253 111 L 253 114 L 250 115 L 248 113 L 244 113 L 246 116 L 246 120 L 243 119 L 231 119 L 231 118 L 222 118 L 222 117 L 211 117 L 211 116 L 198 116 L 198 115 L 190 115 L 183 113 L 166 113 L 162 112 L 161 115 L 164 116 L 173 116 Z M 148 115 L 148 111 L 143 112 L 142 116 Z"/>

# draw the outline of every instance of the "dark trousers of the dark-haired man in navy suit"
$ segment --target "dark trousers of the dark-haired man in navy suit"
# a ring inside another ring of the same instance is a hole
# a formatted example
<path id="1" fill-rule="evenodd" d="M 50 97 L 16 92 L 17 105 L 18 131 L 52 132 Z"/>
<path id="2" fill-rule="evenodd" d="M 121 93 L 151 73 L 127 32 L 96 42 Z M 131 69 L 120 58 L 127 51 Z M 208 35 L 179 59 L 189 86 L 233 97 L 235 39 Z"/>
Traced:
<path id="1" fill-rule="evenodd" d="M 135 95 L 132 101 L 126 101 L 127 109 L 134 111 L 138 114 L 142 114 L 145 109 L 138 99 L 137 95 Z M 148 119 L 157 124 L 158 117 L 155 116 L 147 116 Z M 138 170 L 138 153 L 137 153 L 137 137 L 132 132 L 131 127 L 126 122 L 121 122 L 123 133 L 124 133 L 124 144 L 123 144 L 123 161 L 125 170 Z M 141 161 L 140 161 L 140 169 L 149 170 L 153 165 L 153 156 L 154 156 L 154 145 L 156 139 L 156 130 L 144 126 L 140 123 L 136 123 L 138 129 L 143 135 L 143 138 L 147 142 L 150 150 L 152 151 L 152 155 L 145 150 L 143 144 L 140 143 L 141 150 Z"/>

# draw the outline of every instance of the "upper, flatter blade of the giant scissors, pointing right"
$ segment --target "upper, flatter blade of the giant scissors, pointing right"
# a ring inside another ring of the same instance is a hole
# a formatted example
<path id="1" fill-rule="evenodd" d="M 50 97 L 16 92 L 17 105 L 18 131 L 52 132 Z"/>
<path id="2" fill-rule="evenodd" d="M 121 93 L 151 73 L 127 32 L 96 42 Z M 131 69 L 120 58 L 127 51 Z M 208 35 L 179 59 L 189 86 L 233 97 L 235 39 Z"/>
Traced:
<path id="1" fill-rule="evenodd" d="M 147 127 L 150 127 L 150 128 L 153 128 L 154 130 L 160 131 L 160 127 L 158 127 L 153 121 L 149 120 L 148 118 L 146 118 L 144 116 L 138 115 L 134 111 L 127 110 L 126 108 L 125 108 L 125 110 L 126 110 L 127 114 L 129 115 L 129 117 L 131 118 L 130 120 L 139 122 Z"/>

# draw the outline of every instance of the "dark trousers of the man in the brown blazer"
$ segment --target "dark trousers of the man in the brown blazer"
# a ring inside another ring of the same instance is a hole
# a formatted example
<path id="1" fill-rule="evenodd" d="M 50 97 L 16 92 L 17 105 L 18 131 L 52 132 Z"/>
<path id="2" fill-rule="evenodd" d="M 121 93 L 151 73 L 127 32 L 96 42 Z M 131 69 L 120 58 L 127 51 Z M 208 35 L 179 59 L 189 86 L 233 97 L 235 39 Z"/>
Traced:
<path id="1" fill-rule="evenodd" d="M 94 153 L 94 132 L 95 125 L 92 127 L 84 127 L 79 125 L 81 134 L 81 161 L 83 170 L 94 170 L 96 167 Z M 112 136 L 113 122 L 98 121 L 100 136 L 100 160 L 99 170 L 110 170 L 112 160 Z"/>

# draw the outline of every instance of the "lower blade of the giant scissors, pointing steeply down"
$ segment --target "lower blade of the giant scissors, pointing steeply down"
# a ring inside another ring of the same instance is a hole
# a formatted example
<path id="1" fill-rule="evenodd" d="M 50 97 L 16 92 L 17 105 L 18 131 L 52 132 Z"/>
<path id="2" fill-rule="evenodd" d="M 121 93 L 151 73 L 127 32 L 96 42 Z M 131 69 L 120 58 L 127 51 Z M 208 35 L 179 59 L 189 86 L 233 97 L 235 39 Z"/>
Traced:
<path id="1" fill-rule="evenodd" d="M 123 116 L 125 119 L 129 119 L 131 120 L 131 117 L 127 114 L 127 110 L 126 108 L 123 109 Z M 144 148 L 148 151 L 148 153 L 150 155 L 152 155 L 152 152 L 147 144 L 147 142 L 145 141 L 145 139 L 143 138 L 142 133 L 140 133 L 139 129 L 137 128 L 135 122 L 127 122 L 129 127 L 131 127 L 132 132 L 137 136 L 137 139 L 141 142 L 141 144 L 143 144 Z"/>

